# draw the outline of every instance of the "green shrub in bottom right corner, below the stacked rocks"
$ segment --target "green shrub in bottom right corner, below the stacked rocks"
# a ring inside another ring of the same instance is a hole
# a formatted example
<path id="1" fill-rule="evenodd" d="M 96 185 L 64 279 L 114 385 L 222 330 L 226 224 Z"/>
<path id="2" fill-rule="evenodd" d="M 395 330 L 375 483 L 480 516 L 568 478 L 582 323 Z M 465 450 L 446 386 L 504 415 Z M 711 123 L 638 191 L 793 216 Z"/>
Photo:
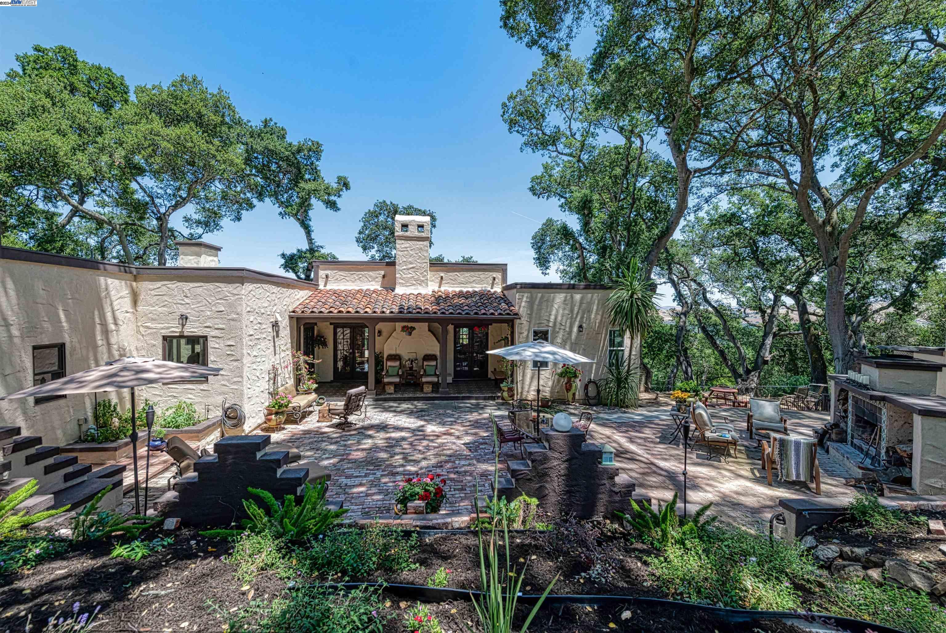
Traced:
<path id="1" fill-rule="evenodd" d="M 925 595 L 893 585 L 864 580 L 832 584 L 822 594 L 819 611 L 899 628 L 911 633 L 946 630 L 946 609 Z"/>

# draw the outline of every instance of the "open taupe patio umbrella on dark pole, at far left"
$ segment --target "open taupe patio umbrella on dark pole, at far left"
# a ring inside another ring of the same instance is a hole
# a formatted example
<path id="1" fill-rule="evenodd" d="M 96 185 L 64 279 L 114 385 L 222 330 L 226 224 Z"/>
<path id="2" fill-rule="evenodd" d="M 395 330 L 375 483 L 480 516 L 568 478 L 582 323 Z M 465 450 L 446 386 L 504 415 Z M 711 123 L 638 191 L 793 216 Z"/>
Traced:
<path id="1" fill-rule="evenodd" d="M 8 396 L 0 400 L 12 400 L 30 396 L 64 396 L 66 394 L 91 394 L 99 391 L 131 389 L 131 463 L 134 467 L 134 511 L 141 513 L 138 500 L 138 428 L 134 407 L 134 388 L 146 385 L 218 376 L 219 367 L 191 365 L 169 360 L 144 359 L 129 356 L 112 360 L 104 365 L 86 369 L 84 372 L 50 380 L 35 387 Z"/>

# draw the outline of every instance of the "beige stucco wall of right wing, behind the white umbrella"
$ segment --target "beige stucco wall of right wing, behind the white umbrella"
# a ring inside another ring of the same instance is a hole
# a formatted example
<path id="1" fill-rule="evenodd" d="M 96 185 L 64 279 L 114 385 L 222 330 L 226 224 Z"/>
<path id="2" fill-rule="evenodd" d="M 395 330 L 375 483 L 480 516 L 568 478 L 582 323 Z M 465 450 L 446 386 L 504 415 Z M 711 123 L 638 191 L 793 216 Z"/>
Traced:
<path id="1" fill-rule="evenodd" d="M 604 302 L 608 294 L 608 290 L 514 289 L 506 291 L 506 295 L 516 304 L 521 316 L 516 325 L 516 343 L 532 341 L 533 328 L 549 328 L 551 330 L 550 343 L 597 360 L 595 363 L 586 362 L 578 365 L 584 372 L 578 386 L 578 398 L 584 396 L 587 380 L 603 378 L 607 370 L 609 325 Z M 584 325 L 583 332 L 578 331 L 578 325 Z M 492 332 L 490 334 L 492 335 Z M 625 336 L 625 358 L 630 354 L 630 337 Z M 538 371 L 532 368 L 531 362 L 518 364 L 517 395 L 534 394 Z M 560 367 L 558 363 L 553 363 L 551 371 L 542 370 L 543 396 L 565 397 L 565 379 L 552 376 Z"/>

